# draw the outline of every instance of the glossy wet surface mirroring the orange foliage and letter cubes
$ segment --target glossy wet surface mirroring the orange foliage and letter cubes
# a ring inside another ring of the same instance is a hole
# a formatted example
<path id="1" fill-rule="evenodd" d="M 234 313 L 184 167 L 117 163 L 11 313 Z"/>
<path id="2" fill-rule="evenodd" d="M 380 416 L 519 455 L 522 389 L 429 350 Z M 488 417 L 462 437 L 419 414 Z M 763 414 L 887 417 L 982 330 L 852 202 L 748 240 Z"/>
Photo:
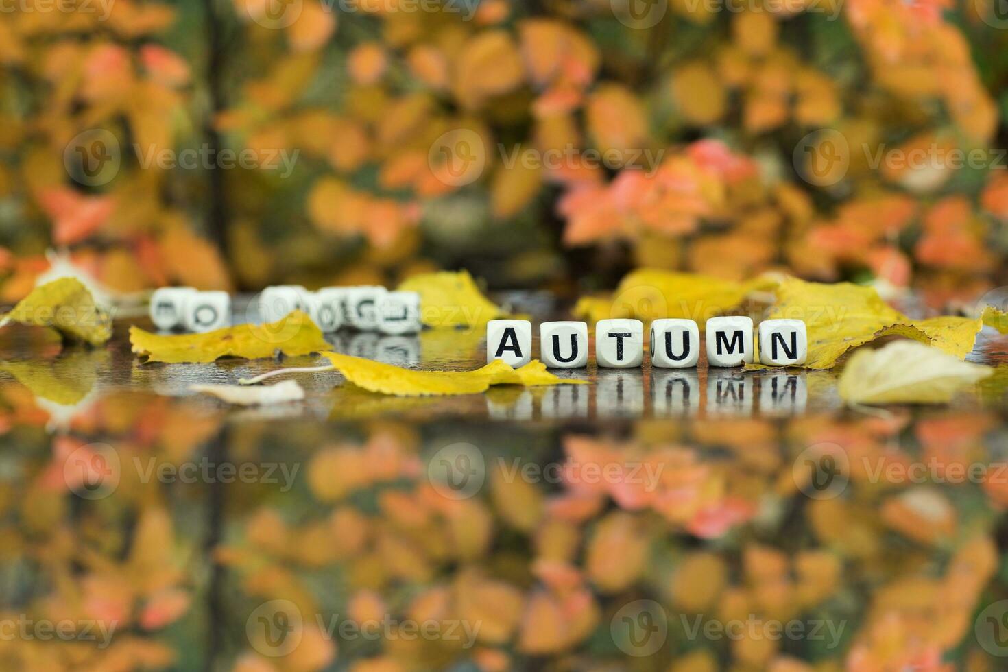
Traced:
<path id="1" fill-rule="evenodd" d="M 144 365 L 125 328 L 4 335 L 2 669 L 1005 669 L 1003 370 L 871 414 L 837 372 L 646 358 L 242 409 L 187 387 L 321 362 Z M 482 333 L 333 340 L 484 362 Z"/>

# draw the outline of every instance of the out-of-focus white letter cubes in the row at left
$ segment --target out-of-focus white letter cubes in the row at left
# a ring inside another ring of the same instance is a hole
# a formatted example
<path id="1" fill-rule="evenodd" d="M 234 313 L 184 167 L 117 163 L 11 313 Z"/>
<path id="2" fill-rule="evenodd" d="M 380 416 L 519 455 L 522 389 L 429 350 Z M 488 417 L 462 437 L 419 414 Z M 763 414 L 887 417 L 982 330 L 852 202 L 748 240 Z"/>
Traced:
<path id="1" fill-rule="evenodd" d="M 301 310 L 327 333 L 339 330 L 344 324 L 390 335 L 420 330 L 420 295 L 378 286 L 308 291 L 300 285 L 277 285 L 266 287 L 251 306 L 258 310 L 259 319 L 266 322 Z M 223 291 L 161 287 L 151 296 L 150 319 L 162 330 L 223 328 L 231 325 L 231 297 Z"/>

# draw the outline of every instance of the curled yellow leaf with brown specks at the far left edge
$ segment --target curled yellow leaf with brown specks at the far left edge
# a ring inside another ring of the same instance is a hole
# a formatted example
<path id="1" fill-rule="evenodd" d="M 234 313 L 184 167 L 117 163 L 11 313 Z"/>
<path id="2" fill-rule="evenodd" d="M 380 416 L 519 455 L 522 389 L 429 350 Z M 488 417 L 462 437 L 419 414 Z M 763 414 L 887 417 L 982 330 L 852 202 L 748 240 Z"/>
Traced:
<path id="1" fill-rule="evenodd" d="M 35 287 L 0 320 L 54 328 L 73 341 L 102 346 L 112 338 L 112 317 L 77 278 L 58 278 Z"/>

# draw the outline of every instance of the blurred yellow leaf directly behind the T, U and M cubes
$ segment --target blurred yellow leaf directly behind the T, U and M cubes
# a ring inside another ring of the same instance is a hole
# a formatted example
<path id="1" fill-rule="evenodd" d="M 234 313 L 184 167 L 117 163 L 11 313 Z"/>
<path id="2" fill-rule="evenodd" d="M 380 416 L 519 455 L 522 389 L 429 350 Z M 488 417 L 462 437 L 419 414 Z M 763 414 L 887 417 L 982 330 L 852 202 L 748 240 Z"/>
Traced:
<path id="1" fill-rule="evenodd" d="M 584 297 L 575 305 L 574 313 L 591 321 L 611 317 L 636 317 L 644 321 L 683 317 L 696 319 L 703 326 L 708 318 L 741 304 L 751 291 L 773 285 L 774 281 L 765 278 L 735 282 L 696 273 L 641 268 L 623 278 L 612 298 Z"/>

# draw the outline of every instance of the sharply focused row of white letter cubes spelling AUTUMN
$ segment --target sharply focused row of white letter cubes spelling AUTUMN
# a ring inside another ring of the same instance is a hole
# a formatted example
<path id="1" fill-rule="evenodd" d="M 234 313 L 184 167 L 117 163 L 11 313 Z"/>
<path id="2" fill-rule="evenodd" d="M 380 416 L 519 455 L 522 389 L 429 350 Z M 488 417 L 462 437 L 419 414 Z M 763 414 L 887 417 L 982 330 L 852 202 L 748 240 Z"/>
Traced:
<path id="1" fill-rule="evenodd" d="M 691 319 L 651 322 L 651 366 L 686 369 L 700 361 L 700 326 Z M 707 361 L 713 367 L 750 364 L 756 344 L 753 320 L 744 316 L 707 320 Z M 551 369 L 588 366 L 588 324 L 578 321 L 539 325 L 542 362 Z M 808 335 L 800 319 L 764 319 L 759 325 L 760 363 L 771 366 L 804 364 Z M 532 359 L 532 324 L 525 319 L 494 319 L 487 323 L 487 363 L 502 360 L 521 367 Z M 600 367 L 639 367 L 644 360 L 644 323 L 639 319 L 603 319 L 595 327 L 595 359 Z"/>

